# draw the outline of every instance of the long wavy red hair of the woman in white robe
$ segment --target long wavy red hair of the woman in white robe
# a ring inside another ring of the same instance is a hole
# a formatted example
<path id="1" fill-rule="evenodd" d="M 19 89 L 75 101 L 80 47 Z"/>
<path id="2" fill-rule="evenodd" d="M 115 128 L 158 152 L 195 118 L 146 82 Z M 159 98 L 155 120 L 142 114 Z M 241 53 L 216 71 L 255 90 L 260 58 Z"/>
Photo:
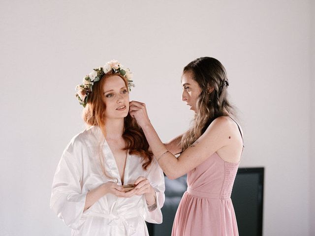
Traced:
<path id="1" fill-rule="evenodd" d="M 99 146 L 100 147 L 99 160 L 101 163 L 103 174 L 107 177 L 110 177 L 110 176 L 105 170 L 105 165 L 104 165 L 105 158 L 104 158 L 103 152 L 101 151 L 102 145 L 104 144 L 105 137 L 106 137 L 106 129 L 105 129 L 105 121 L 104 121 L 104 113 L 106 110 L 106 105 L 105 105 L 105 98 L 103 95 L 102 88 L 106 81 L 106 78 L 112 75 L 114 74 L 107 73 L 100 79 L 99 82 L 95 82 L 95 84 L 93 85 L 93 91 L 90 93 L 87 106 L 83 110 L 83 119 L 88 124 L 88 126 L 92 126 L 92 125 L 98 126 L 104 136 L 104 139 L 100 141 L 101 145 Z M 124 78 L 120 74 L 115 74 L 115 75 L 120 76 L 124 80 L 126 88 L 128 90 L 128 82 L 126 78 Z M 147 168 L 150 166 L 152 162 L 153 153 L 149 151 L 149 144 L 144 135 L 143 130 L 136 122 L 136 119 L 132 118 L 129 113 L 124 119 L 123 139 L 125 140 L 125 143 L 126 143 L 126 147 L 124 149 L 129 150 L 129 154 L 136 154 L 136 155 L 141 156 L 141 158 L 143 159 L 142 168 L 144 170 L 147 170 Z"/>

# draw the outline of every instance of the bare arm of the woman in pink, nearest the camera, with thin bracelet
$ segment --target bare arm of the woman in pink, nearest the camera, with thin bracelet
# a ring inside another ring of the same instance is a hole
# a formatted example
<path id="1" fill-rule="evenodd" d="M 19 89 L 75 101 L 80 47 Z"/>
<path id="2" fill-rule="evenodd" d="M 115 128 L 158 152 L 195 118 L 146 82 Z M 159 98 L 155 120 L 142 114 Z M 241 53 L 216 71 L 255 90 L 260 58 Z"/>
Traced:
<path id="1" fill-rule="evenodd" d="M 170 179 L 185 175 L 205 161 L 211 154 L 231 142 L 231 127 L 227 118 L 217 118 L 193 145 L 176 158 L 170 152 L 163 154 L 167 148 L 152 126 L 144 103 L 130 102 L 130 114 L 137 119 L 138 124 L 142 127 L 152 152 L 158 159 L 159 166 Z M 162 154 L 163 156 L 159 158 Z"/>

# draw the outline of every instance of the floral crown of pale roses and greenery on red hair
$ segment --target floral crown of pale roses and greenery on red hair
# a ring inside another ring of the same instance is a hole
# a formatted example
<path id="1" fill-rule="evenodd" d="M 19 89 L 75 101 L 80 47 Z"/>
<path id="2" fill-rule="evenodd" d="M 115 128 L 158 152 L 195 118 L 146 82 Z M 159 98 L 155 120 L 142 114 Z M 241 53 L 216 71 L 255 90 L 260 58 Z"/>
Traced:
<path id="1" fill-rule="evenodd" d="M 89 95 L 92 92 L 92 88 L 95 82 L 99 81 L 105 74 L 120 74 L 126 78 L 128 82 L 129 91 L 134 87 L 132 73 L 129 68 L 124 68 L 117 60 L 108 61 L 103 67 L 99 66 L 98 69 L 93 71 L 83 78 L 83 82 L 75 87 L 77 91 L 75 96 L 78 98 L 80 105 L 85 107 L 89 100 Z"/>

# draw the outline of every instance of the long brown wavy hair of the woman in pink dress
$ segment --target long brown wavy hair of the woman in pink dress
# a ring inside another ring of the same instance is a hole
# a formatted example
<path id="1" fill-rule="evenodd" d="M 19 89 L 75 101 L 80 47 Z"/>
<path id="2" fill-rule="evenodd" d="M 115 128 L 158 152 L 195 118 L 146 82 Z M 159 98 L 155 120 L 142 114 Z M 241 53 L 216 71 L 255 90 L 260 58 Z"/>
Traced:
<path id="1" fill-rule="evenodd" d="M 226 71 L 219 60 L 209 57 L 195 59 L 184 67 L 183 74 L 188 71 L 192 72 L 201 93 L 197 99 L 193 125 L 182 137 L 183 150 L 192 145 L 214 119 L 235 115 L 234 107 L 228 101 Z"/>

